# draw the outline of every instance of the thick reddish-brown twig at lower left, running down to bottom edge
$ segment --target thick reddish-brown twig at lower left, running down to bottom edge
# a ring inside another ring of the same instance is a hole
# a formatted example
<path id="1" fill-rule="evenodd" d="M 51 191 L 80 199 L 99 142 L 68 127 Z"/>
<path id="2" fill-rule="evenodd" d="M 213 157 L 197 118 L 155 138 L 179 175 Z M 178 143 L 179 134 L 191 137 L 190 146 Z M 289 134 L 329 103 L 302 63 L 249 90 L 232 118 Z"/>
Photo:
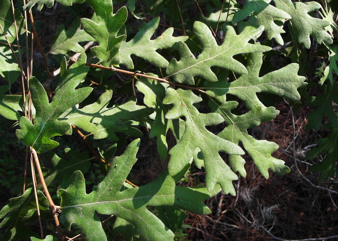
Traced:
<path id="1" fill-rule="evenodd" d="M 34 157 L 34 160 L 35 160 L 35 165 L 37 166 L 37 169 L 38 169 L 38 172 L 39 172 L 39 177 L 40 177 L 40 182 L 42 184 L 42 187 L 44 189 L 44 192 L 46 194 L 46 197 L 47 197 L 47 200 L 49 202 L 49 205 L 52 209 L 52 213 L 53 213 L 53 217 L 54 217 L 54 221 L 55 221 L 55 224 L 56 224 L 56 228 L 57 228 L 57 231 L 59 232 L 59 238 L 61 241 L 64 241 L 64 238 L 62 237 L 62 232 L 61 232 L 61 227 L 60 227 L 60 223 L 59 223 L 59 220 L 57 218 L 57 212 L 56 212 L 56 209 L 60 209 L 61 207 L 59 206 L 56 206 L 49 194 L 49 191 L 48 191 L 48 188 L 47 188 L 47 185 L 46 185 L 46 182 L 45 182 L 45 179 L 43 177 L 43 173 L 42 173 L 42 170 L 41 170 L 41 166 L 40 166 L 40 162 L 39 162 L 39 158 L 38 158 L 38 154 L 37 152 L 34 150 L 34 148 L 31 148 L 31 153 L 33 154 L 33 157 Z"/>

